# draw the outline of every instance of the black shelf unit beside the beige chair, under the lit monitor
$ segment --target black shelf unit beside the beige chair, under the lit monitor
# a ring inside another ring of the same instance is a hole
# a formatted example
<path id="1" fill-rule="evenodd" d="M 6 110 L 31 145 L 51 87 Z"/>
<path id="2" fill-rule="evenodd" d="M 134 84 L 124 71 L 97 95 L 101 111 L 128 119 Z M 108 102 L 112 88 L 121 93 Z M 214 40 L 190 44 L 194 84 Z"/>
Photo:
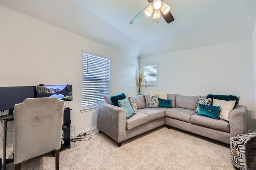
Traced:
<path id="1" fill-rule="evenodd" d="M 63 125 L 62 125 L 64 144 L 61 145 L 60 150 L 70 148 L 70 110 L 72 109 L 64 108 Z"/>

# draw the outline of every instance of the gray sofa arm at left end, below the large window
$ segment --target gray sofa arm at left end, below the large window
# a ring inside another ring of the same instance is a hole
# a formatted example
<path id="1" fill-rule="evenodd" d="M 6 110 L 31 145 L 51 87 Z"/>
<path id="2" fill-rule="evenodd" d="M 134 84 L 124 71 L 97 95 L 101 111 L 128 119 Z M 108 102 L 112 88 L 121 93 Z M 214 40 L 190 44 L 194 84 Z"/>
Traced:
<path id="1" fill-rule="evenodd" d="M 98 104 L 97 127 L 120 143 L 126 131 L 126 114 L 123 108 L 106 103 Z"/>

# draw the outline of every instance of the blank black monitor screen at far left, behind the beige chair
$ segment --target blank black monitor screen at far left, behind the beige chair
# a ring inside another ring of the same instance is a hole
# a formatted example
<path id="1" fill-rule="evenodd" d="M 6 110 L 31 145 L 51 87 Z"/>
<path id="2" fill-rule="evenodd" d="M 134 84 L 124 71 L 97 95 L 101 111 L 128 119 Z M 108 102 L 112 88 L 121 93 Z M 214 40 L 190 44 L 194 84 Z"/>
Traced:
<path id="1" fill-rule="evenodd" d="M 36 98 L 36 86 L 0 87 L 0 110 L 13 109 L 26 98 Z"/>

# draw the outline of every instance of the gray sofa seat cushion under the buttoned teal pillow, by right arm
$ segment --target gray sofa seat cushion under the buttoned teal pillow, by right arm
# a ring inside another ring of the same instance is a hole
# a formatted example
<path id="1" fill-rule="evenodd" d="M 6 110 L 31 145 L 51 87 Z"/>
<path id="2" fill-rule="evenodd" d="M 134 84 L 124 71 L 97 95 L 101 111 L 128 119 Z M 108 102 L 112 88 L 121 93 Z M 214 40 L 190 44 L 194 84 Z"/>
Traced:
<path id="1" fill-rule="evenodd" d="M 223 132 L 229 132 L 228 121 L 222 119 L 212 119 L 210 117 L 195 114 L 190 117 L 190 123 Z"/>

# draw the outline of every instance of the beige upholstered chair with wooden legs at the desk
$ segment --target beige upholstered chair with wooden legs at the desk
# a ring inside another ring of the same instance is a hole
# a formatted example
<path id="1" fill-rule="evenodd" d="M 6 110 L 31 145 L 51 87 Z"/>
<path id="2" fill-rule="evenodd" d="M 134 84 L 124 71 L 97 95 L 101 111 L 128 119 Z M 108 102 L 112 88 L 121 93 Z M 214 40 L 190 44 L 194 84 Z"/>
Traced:
<path id="1" fill-rule="evenodd" d="M 55 152 L 56 169 L 59 153 L 64 101 L 58 98 L 28 98 L 14 106 L 14 164 Z"/>

